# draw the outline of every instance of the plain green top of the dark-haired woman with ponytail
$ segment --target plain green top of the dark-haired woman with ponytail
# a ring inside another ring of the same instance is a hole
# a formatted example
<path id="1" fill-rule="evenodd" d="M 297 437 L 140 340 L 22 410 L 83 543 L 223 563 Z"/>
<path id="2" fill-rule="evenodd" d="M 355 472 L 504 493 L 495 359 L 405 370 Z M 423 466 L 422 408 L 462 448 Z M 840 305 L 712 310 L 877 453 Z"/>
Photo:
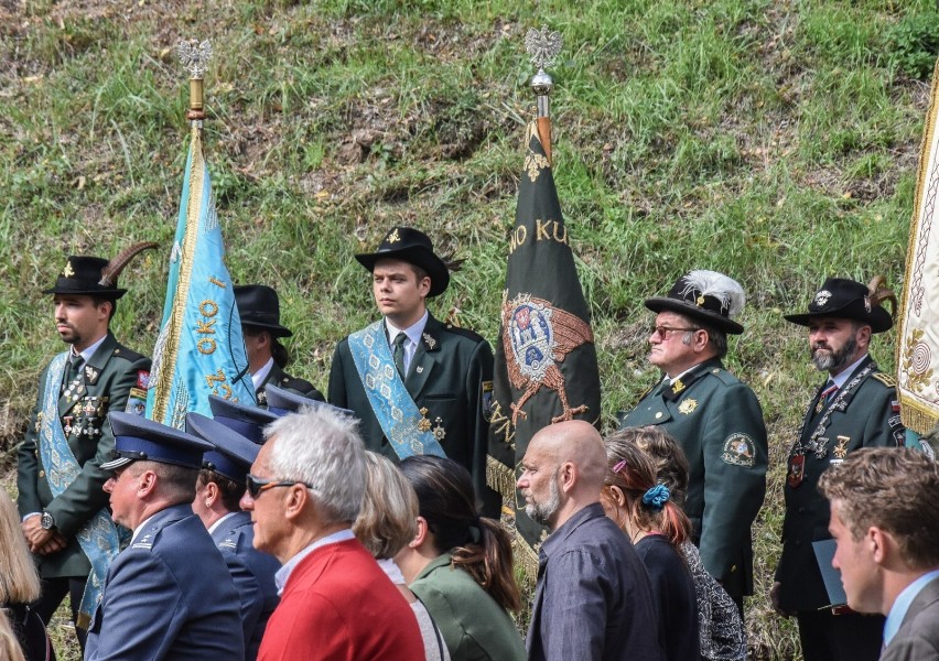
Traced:
<path id="1" fill-rule="evenodd" d="M 515 622 L 473 577 L 434 559 L 408 587 L 427 607 L 453 661 L 525 661 L 525 643 Z"/>

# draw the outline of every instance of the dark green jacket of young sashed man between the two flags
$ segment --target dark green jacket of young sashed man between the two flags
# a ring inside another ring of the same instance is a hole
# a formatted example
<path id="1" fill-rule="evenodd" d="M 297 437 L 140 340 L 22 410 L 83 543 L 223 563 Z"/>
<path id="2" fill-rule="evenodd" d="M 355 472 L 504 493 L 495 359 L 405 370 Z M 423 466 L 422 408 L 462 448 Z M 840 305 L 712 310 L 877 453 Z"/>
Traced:
<path id="1" fill-rule="evenodd" d="M 483 498 L 489 434 L 483 387 L 484 383 L 492 387 L 493 381 L 489 343 L 472 330 L 441 324 L 428 315 L 423 342 L 418 345 L 408 369 L 404 379 L 408 392 L 418 409 L 427 409 L 424 418 L 438 435 L 443 452 L 470 470 L 476 495 Z M 328 401 L 355 411 L 366 448 L 380 452 L 396 463 L 399 460 L 371 410 L 349 351 L 348 338 L 336 345 L 333 355 Z M 492 514 L 486 512 L 486 516 Z"/>

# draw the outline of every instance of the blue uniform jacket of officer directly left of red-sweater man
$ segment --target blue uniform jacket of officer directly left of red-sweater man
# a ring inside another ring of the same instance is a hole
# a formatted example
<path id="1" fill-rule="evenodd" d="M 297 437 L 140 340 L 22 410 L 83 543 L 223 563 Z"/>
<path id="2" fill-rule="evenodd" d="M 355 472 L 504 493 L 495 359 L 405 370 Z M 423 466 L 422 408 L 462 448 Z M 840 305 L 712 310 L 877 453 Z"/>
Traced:
<path id="1" fill-rule="evenodd" d="M 258 648 L 271 613 L 280 603 L 274 574 L 280 563 L 273 555 L 255 549 L 250 512 L 236 512 L 212 532 L 212 540 L 225 557 L 241 599 L 241 631 L 245 660 L 258 658 Z"/>

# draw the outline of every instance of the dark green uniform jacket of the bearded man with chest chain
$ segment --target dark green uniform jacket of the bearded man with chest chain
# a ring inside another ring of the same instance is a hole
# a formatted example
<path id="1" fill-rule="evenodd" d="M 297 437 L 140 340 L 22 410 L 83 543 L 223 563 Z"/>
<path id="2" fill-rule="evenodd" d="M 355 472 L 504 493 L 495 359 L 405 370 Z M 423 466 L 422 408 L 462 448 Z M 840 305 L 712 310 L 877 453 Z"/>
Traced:
<path id="1" fill-rule="evenodd" d="M 868 356 L 854 370 L 844 388 L 872 362 Z M 776 581 L 781 584 L 779 606 L 790 613 L 814 610 L 831 604 L 812 550 L 812 542 L 831 539 L 828 532 L 828 500 L 818 491 L 821 474 L 832 463 L 839 463 L 859 447 L 896 447 L 904 444 L 905 430 L 899 419 L 896 388 L 889 377 L 877 371 L 876 365 L 849 393 L 843 411 L 837 407 L 838 394 L 841 394 L 839 391 L 828 407 L 817 412 L 823 389 L 824 383 L 812 398 L 800 441 L 805 443 L 810 438 L 828 408 L 832 408 L 829 424 L 821 435 L 828 440 L 827 453 L 822 458 L 817 458 L 813 452 L 807 452 L 803 455 L 806 463 L 801 484 L 794 488 L 787 478 L 784 487 L 786 518 L 782 522 L 782 555 L 776 568 Z M 790 451 L 789 462 L 791 457 Z"/>

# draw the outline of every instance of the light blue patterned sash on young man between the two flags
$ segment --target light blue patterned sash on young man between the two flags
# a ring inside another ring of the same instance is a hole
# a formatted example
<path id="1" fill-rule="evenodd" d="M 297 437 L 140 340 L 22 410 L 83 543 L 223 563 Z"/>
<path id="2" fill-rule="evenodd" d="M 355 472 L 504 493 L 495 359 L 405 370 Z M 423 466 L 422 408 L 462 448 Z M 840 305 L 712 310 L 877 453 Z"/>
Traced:
<path id="1" fill-rule="evenodd" d="M 430 431 L 430 421 L 418 411 L 395 367 L 395 358 L 381 327 L 384 323 L 375 322 L 349 335 L 349 351 L 375 418 L 398 458 L 421 454 L 445 457 L 446 453 Z M 425 421 L 424 431 L 420 429 L 422 420 Z"/>

